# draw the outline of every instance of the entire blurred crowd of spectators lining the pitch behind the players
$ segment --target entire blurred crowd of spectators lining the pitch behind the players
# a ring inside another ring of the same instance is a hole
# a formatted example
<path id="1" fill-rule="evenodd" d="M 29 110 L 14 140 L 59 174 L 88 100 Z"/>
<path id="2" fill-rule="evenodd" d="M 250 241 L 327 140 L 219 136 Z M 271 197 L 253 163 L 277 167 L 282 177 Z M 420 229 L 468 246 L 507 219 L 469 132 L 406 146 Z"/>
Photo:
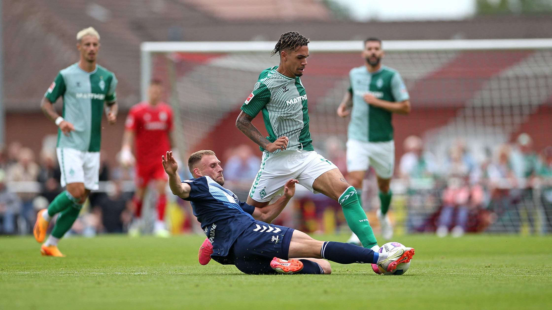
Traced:
<path id="1" fill-rule="evenodd" d="M 441 161 L 424 147 L 420 137 L 407 137 L 402 147 L 404 154 L 392 181 L 395 195 L 392 210 L 397 227 L 404 227 L 406 233 L 435 232 L 441 237 L 447 234 L 459 237 L 465 232 L 480 231 L 535 234 L 552 231 L 552 146 L 537 152 L 532 138 L 522 133 L 513 143 L 486 149 L 485 157 L 477 160 L 464 141 L 457 140 Z M 329 137 L 317 151 L 347 175 L 343 141 Z M 251 181 L 258 173 L 260 154 L 248 145 L 239 145 L 222 155 L 226 186 L 241 200 L 247 199 Z M 128 229 L 132 220 L 133 170 L 110 167 L 105 159 L 102 155 L 100 190 L 90 195 L 70 233 L 94 236 L 124 233 Z M 189 178 L 185 169 L 181 170 L 185 174 L 182 178 Z M 369 171 L 367 178 L 373 178 L 373 174 Z M 0 233 L 31 233 L 36 212 L 47 207 L 63 190 L 60 177 L 55 149 L 43 149 L 38 158 L 19 142 L 0 149 Z M 374 199 L 377 189 L 370 185 L 374 180 L 365 183 L 369 185 L 363 200 L 369 212 L 378 207 Z M 316 231 L 305 227 L 309 226 L 305 222 L 323 217 L 324 210 L 316 210 L 322 205 L 334 207 L 333 217 L 344 223 L 344 219 L 339 220 L 339 206 L 319 201 L 318 196 L 322 195 L 302 191 L 296 196 L 306 202 L 302 201 L 299 208 L 286 208 L 289 210 L 278 219 L 280 224 Z M 194 227 L 197 221 L 187 202 L 173 202 L 182 211 L 167 216 L 168 221 L 182 227 L 172 231 L 200 231 Z M 176 215 L 186 220 L 175 222 L 171 217 Z M 294 217 L 294 223 L 286 222 L 290 217 Z"/>

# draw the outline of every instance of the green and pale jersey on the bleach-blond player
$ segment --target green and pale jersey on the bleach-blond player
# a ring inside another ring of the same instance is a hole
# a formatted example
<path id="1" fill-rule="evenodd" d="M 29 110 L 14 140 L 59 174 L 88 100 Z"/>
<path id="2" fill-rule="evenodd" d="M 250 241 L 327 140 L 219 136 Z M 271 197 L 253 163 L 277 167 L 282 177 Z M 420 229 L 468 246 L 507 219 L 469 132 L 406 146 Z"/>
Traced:
<path id="1" fill-rule="evenodd" d="M 57 74 L 44 97 L 55 103 L 63 96 L 63 119 L 75 126 L 68 137 L 57 130 L 57 147 L 100 151 L 104 102 L 115 102 L 116 87 L 115 74 L 100 65 L 86 72 L 74 63 Z"/>

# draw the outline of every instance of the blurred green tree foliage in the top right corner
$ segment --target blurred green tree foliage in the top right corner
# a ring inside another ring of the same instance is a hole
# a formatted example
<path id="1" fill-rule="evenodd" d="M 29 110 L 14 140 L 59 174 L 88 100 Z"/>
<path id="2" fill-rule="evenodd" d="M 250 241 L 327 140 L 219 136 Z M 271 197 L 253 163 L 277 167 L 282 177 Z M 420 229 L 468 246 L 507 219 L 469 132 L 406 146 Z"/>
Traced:
<path id="1" fill-rule="evenodd" d="M 552 0 L 477 0 L 477 14 L 550 14 Z"/>

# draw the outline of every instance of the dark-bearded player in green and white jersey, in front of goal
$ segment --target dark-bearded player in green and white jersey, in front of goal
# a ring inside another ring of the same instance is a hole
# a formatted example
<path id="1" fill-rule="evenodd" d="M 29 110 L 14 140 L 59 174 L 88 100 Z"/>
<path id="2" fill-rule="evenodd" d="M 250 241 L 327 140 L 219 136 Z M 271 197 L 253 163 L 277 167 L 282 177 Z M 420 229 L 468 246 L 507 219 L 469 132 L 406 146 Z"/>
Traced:
<path id="1" fill-rule="evenodd" d="M 389 183 L 395 167 L 391 117 L 393 113 L 410 113 L 410 97 L 399 72 L 381 65 L 383 56 L 381 40 L 368 38 L 364 41 L 362 57 L 365 63 L 349 73 L 351 87 L 337 108 L 337 114 L 341 117 L 351 114 L 347 140 L 349 182 L 357 189 L 360 200 L 364 174 L 370 165 L 374 168 L 381 201 L 378 220 L 384 239 L 389 240 L 393 236 L 387 214 L 392 196 Z M 353 234 L 349 242 L 355 243 L 355 239 L 358 242 Z"/>

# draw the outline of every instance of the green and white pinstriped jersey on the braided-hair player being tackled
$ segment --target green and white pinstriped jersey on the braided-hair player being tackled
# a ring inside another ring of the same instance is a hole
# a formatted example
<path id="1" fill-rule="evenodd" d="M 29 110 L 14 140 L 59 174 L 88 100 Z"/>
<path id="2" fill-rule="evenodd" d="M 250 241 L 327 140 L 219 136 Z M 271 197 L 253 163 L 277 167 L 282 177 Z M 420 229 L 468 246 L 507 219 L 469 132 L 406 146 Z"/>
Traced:
<path id="1" fill-rule="evenodd" d="M 268 141 L 274 142 L 286 136 L 289 138 L 288 150 L 314 151 L 309 131 L 307 95 L 301 79 L 286 77 L 277 68 L 274 66 L 261 72 L 241 110 L 252 117 L 262 111 Z M 278 149 L 274 153 L 281 151 Z"/>

